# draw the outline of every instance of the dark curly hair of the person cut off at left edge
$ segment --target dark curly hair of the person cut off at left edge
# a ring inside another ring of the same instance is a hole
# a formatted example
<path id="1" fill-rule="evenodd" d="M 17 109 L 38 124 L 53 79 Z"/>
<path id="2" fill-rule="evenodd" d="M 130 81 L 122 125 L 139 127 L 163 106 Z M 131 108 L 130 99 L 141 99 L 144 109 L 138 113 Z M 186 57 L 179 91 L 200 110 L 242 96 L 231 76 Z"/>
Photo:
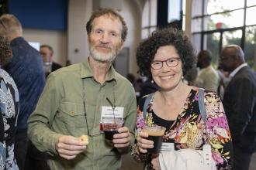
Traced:
<path id="1" fill-rule="evenodd" d="M 12 59 L 12 49 L 6 36 L 0 33 L 0 65 L 4 66 Z"/>

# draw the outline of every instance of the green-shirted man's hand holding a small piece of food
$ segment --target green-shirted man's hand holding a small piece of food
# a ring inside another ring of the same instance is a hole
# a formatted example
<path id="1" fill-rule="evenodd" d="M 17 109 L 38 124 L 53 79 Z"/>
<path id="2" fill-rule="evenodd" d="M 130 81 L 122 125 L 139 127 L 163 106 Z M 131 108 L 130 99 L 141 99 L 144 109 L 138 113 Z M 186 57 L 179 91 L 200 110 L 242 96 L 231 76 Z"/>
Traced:
<path id="1" fill-rule="evenodd" d="M 61 135 L 57 138 L 55 144 L 57 153 L 67 160 L 75 158 L 78 154 L 85 151 L 86 145 L 80 138 L 73 136 Z"/>

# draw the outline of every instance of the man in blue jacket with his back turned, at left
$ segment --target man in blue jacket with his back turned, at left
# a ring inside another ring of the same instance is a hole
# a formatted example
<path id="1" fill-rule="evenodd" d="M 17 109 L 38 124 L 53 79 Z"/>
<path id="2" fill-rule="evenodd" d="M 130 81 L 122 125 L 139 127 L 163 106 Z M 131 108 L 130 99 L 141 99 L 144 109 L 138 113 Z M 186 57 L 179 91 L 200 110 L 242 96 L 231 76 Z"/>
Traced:
<path id="1" fill-rule="evenodd" d="M 27 149 L 27 119 L 36 107 L 43 91 L 45 76 L 43 59 L 22 37 L 22 26 L 14 15 L 0 17 L 0 29 L 5 32 L 12 48 L 12 60 L 3 68 L 12 76 L 19 90 L 19 117 L 14 153 L 19 169 L 23 169 Z"/>

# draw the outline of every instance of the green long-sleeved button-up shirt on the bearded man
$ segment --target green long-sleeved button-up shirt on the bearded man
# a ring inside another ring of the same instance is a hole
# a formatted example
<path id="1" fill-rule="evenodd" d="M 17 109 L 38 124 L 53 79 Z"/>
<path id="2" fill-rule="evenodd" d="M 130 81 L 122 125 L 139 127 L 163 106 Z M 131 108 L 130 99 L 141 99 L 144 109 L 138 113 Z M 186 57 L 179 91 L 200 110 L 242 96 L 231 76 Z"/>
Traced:
<path id="1" fill-rule="evenodd" d="M 48 165 L 51 169 L 120 168 L 121 155 L 130 151 L 130 147 L 114 148 L 99 131 L 102 106 L 111 107 L 106 97 L 112 103 L 115 101 L 116 107 L 124 107 L 124 126 L 130 129 L 130 144 L 133 145 L 136 97 L 128 80 L 111 67 L 106 82 L 96 82 L 88 59 L 50 73 L 36 110 L 29 117 L 28 135 L 36 148 L 50 153 Z M 94 135 L 89 138 L 88 148 L 72 160 L 61 158 L 55 150 L 59 135 L 80 137 L 88 134 L 85 110 L 88 131 Z"/>

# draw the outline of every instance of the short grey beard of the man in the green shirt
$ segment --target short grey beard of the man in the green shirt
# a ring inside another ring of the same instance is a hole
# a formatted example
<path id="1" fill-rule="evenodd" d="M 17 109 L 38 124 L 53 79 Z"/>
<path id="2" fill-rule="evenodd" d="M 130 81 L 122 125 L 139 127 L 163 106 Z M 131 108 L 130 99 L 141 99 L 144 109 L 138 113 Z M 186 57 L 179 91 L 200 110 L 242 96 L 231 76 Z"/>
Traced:
<path id="1" fill-rule="evenodd" d="M 109 53 L 100 53 L 93 46 L 89 47 L 92 58 L 101 63 L 112 63 L 116 59 L 117 52 L 116 50 Z"/>

